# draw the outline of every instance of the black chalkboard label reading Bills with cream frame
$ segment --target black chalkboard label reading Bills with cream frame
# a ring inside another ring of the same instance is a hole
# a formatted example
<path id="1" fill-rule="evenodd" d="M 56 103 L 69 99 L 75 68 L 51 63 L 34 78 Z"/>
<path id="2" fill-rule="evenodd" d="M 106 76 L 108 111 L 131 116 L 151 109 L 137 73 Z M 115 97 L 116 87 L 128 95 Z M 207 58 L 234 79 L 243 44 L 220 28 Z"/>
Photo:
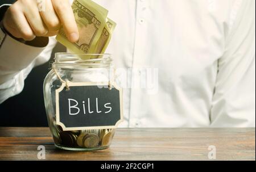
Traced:
<path id="1" fill-rule="evenodd" d="M 56 123 L 64 131 L 116 128 L 123 120 L 122 89 L 108 82 L 69 82 L 56 90 Z"/>

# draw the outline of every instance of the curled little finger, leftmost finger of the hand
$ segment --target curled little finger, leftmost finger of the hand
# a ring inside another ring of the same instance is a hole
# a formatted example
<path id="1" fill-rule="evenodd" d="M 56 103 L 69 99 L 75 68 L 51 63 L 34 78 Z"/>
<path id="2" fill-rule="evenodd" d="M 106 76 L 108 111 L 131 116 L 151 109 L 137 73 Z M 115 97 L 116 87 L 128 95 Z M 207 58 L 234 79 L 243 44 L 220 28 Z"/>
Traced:
<path id="1" fill-rule="evenodd" d="M 3 19 L 3 26 L 11 35 L 24 40 L 33 40 L 35 38 L 34 32 L 18 6 L 12 5 L 9 7 L 5 16 L 7 17 Z"/>

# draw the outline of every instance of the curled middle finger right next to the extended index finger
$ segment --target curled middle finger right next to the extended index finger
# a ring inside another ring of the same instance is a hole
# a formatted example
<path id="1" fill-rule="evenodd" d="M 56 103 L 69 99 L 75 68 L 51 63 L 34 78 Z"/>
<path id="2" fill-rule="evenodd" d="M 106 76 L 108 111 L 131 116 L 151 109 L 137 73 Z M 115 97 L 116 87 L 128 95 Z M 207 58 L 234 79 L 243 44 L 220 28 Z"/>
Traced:
<path id="1" fill-rule="evenodd" d="M 59 31 L 61 22 L 57 17 L 55 10 L 53 9 L 51 0 L 44 1 L 44 9 L 39 10 L 40 15 L 42 16 L 43 22 L 48 28 L 48 32 L 57 32 Z"/>

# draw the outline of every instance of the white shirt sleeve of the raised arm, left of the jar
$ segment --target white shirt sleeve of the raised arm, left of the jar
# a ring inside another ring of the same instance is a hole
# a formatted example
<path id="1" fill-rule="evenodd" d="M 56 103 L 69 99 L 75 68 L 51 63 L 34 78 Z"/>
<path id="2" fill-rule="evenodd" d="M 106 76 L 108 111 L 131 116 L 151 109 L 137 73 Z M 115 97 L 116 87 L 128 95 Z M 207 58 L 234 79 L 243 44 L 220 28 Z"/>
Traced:
<path id="1" fill-rule="evenodd" d="M 0 103 L 23 90 L 24 79 L 34 66 L 49 60 L 55 45 L 53 37 L 46 47 L 34 47 L 5 36 L 0 47 Z"/>

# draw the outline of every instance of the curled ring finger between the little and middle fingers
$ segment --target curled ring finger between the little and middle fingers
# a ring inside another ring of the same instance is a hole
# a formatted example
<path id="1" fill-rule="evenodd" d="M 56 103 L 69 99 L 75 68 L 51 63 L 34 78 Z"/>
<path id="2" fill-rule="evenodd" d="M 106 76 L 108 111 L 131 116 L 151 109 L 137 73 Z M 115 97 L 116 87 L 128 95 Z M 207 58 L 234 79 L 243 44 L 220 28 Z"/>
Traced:
<path id="1" fill-rule="evenodd" d="M 30 5 L 27 5 L 24 10 L 24 15 L 36 36 L 44 36 L 47 34 L 48 29 L 39 14 L 36 1 L 31 1 Z"/>

